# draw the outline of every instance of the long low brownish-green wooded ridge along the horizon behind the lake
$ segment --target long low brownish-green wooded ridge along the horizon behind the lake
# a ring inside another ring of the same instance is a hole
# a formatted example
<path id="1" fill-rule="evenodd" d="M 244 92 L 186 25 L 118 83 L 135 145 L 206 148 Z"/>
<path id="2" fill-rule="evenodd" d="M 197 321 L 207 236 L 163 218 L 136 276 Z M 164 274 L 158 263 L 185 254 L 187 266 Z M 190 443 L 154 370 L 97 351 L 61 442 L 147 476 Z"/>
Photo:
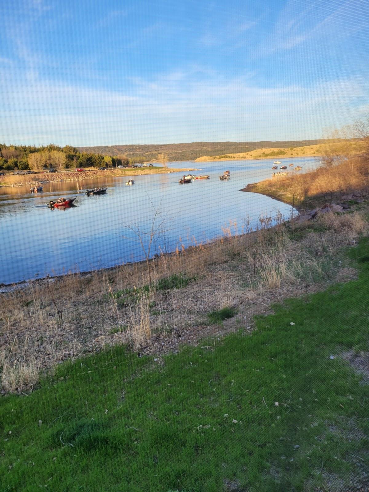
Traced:
<path id="1" fill-rule="evenodd" d="M 96 147 L 78 147 L 80 152 L 101 155 L 126 155 L 127 157 L 144 157 L 145 160 L 155 160 L 157 154 L 168 154 L 169 161 L 195 160 L 206 155 L 240 154 L 256 149 L 288 149 L 318 145 L 321 140 L 288 140 L 282 142 L 191 142 L 186 144 L 163 145 L 114 145 Z"/>

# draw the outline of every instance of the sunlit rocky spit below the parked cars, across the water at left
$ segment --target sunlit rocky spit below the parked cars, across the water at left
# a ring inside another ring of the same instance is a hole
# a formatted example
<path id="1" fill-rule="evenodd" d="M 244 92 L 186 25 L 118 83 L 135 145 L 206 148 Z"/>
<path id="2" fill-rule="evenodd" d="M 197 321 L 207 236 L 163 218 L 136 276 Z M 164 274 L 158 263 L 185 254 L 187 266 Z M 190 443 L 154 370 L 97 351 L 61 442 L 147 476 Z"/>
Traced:
<path id="1" fill-rule="evenodd" d="M 182 168 L 175 169 L 171 167 L 146 167 L 146 168 L 131 168 L 126 167 L 123 169 L 108 169 L 106 171 L 99 171 L 98 169 L 88 169 L 83 172 L 76 171 L 62 171 L 58 173 L 36 173 L 36 174 L 22 174 L 14 175 L 8 174 L 0 176 L 0 187 L 9 186 L 27 186 L 44 183 L 57 183 L 64 181 L 83 181 L 96 178 L 113 177 L 119 178 L 124 176 L 140 176 L 144 174 L 169 174 L 169 173 L 183 173 L 188 171 L 198 171 L 196 168 Z"/>

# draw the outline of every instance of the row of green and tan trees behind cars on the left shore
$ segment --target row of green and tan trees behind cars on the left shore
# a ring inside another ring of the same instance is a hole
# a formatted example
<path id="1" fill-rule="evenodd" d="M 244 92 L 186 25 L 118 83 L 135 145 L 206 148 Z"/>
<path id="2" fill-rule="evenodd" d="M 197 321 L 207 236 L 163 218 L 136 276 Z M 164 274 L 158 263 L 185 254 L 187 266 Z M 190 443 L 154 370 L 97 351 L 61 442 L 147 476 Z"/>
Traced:
<path id="1" fill-rule="evenodd" d="M 50 144 L 42 147 L 28 145 L 0 144 L 0 169 L 6 171 L 31 169 L 41 172 L 45 169 L 62 171 L 72 168 L 118 167 L 143 162 L 143 158 L 128 159 L 125 155 L 101 155 L 79 152 L 71 145 L 60 147 Z"/>

